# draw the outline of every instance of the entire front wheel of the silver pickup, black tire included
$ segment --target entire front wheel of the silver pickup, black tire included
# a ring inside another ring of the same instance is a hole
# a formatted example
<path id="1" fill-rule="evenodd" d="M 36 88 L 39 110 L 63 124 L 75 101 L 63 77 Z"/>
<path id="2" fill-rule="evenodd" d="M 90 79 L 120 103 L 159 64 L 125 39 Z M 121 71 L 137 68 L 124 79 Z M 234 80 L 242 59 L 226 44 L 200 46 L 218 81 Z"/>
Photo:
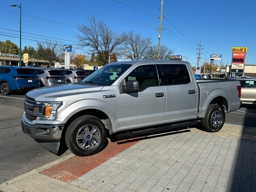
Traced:
<path id="1" fill-rule="evenodd" d="M 86 131 L 87 128 L 89 132 Z M 92 133 L 94 129 L 96 131 Z M 81 138 L 77 139 L 77 136 Z M 102 149 L 106 142 L 106 136 L 106 128 L 100 119 L 94 116 L 84 115 L 76 118 L 68 126 L 65 142 L 69 150 L 75 155 L 90 156 L 98 153 Z M 94 140 L 96 137 L 98 137 L 98 140 Z M 82 146 L 83 144 L 84 146 Z M 91 148 L 90 144 L 93 145 Z"/>

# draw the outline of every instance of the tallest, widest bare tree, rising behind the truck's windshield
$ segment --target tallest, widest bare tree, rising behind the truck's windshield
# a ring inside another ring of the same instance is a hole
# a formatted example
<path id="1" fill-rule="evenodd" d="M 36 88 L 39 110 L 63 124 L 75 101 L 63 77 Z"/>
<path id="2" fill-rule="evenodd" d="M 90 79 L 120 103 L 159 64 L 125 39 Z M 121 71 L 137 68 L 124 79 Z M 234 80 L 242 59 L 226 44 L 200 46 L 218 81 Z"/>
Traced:
<path id="1" fill-rule="evenodd" d="M 89 25 L 80 24 L 77 29 L 81 34 L 76 38 L 79 46 L 89 48 L 90 54 L 98 54 L 103 64 L 108 63 L 109 53 L 118 53 L 118 48 L 123 42 L 122 35 L 113 32 L 105 22 L 95 17 L 88 17 Z"/>

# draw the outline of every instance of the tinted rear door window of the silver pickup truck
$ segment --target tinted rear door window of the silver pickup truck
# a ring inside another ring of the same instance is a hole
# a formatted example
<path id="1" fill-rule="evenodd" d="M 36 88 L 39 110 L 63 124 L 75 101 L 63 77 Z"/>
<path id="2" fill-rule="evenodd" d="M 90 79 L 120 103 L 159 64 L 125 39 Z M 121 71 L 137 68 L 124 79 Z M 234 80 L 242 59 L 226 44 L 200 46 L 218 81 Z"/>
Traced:
<path id="1" fill-rule="evenodd" d="M 184 64 L 167 64 L 161 65 L 162 72 L 166 76 L 167 85 L 188 84 L 190 76 L 188 69 Z"/>

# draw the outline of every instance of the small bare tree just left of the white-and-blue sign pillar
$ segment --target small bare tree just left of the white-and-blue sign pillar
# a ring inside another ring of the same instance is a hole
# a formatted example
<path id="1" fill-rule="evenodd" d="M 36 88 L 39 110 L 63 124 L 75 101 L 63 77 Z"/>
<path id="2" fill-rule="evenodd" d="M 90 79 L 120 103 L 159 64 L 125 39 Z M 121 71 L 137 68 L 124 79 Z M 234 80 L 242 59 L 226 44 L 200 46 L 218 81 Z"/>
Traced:
<path id="1" fill-rule="evenodd" d="M 45 40 L 46 42 L 43 43 L 43 52 L 44 58 L 47 62 L 47 67 L 52 67 L 54 61 L 58 61 L 58 59 L 62 58 L 63 46 L 58 44 L 56 41 L 52 40 Z"/>

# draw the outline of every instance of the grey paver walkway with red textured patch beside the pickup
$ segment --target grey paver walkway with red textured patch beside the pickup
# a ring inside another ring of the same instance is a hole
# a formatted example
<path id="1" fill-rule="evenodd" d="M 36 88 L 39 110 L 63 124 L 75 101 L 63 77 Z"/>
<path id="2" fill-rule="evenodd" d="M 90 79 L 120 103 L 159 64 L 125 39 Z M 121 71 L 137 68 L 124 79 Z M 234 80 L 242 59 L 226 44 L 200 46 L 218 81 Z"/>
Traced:
<path id="1" fill-rule="evenodd" d="M 43 173 L 91 192 L 256 192 L 256 141 L 186 130 L 108 145 L 102 161 L 74 157 Z"/>

